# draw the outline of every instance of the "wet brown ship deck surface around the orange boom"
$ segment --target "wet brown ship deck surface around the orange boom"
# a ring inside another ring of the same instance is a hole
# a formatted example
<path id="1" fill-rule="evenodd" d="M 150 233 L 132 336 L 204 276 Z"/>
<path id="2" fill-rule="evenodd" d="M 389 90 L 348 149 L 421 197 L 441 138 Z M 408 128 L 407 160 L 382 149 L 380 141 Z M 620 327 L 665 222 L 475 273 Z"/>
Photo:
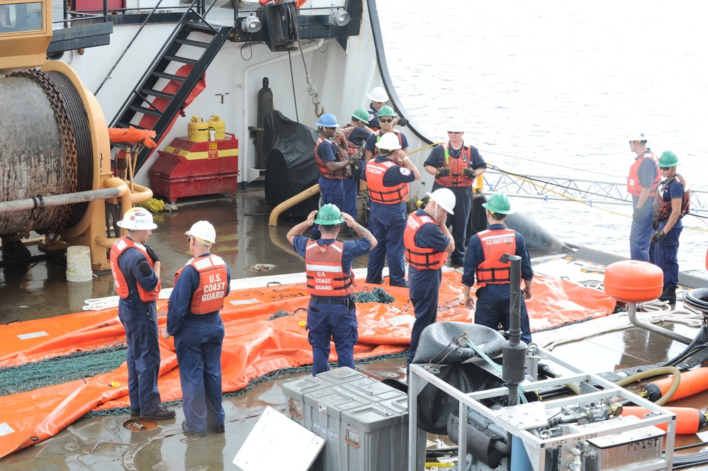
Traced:
<path id="1" fill-rule="evenodd" d="M 269 207 L 259 186 L 240 191 L 235 197 L 186 198 L 178 209 L 155 216 L 158 229 L 148 243 L 162 258 L 163 287 L 172 285 L 174 271 L 189 258 L 184 232 L 197 220 L 209 220 L 217 228 L 215 253 L 230 265 L 234 279 L 277 276 L 303 271 L 303 260 L 286 242 L 286 232 L 299 221 L 268 227 Z M 31 250 L 40 254 L 37 247 Z M 269 267 L 272 266 L 272 267 Z M 358 259 L 355 268 L 366 266 Z M 588 265 L 564 257 L 539 259 L 536 271 L 573 280 L 602 279 Z M 113 295 L 110 273 L 100 273 L 91 282 L 69 283 L 62 254 L 20 264 L 5 264 L 0 270 L 0 322 L 41 319 L 79 312 L 84 300 Z M 259 271 L 263 270 L 263 271 Z M 680 302 L 678 308 L 681 307 Z M 664 325 L 678 334 L 693 337 L 696 327 Z M 553 354 L 588 373 L 661 363 L 685 346 L 664 336 L 633 327 L 563 344 Z M 359 363 L 356 368 L 372 378 L 405 382 L 405 357 Z M 283 411 L 286 397 L 281 385 L 304 375 L 299 371 L 254 385 L 240 395 L 225 397 L 225 433 L 193 438 L 181 431 L 184 416 L 179 406 L 176 418 L 147 421 L 145 428 L 128 429 L 130 416 L 109 415 L 82 418 L 53 438 L 0 460 L 6 471 L 41 470 L 235 470 L 232 464 L 265 407 Z M 676 407 L 708 407 L 708 395 L 695 395 L 672 402 Z M 677 446 L 699 443 L 696 435 L 677 436 Z M 706 446 L 677 452 L 698 453 Z M 698 469 L 690 468 L 690 469 Z"/>

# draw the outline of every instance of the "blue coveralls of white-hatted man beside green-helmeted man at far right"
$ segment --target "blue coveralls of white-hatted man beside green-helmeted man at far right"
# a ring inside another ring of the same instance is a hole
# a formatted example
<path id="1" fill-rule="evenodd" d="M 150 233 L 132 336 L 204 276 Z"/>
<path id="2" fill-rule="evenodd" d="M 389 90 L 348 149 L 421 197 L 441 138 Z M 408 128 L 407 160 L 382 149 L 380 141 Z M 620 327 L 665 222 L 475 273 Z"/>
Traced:
<path id="1" fill-rule="evenodd" d="M 651 150 L 647 148 L 646 152 L 651 152 Z M 642 159 L 642 156 L 644 154 L 641 154 L 636 159 Z M 656 163 L 652 159 L 644 159 L 639 165 L 639 184 L 644 186 L 644 188 L 651 188 L 657 172 Z M 636 210 L 639 196 L 632 195 L 631 199 L 632 209 Z M 631 229 L 629 229 L 629 258 L 632 260 L 653 262 L 653 254 L 649 251 L 651 236 L 654 233 L 654 229 L 651 228 L 651 223 L 654 220 L 651 208 L 652 201 L 653 196 L 646 198 L 644 206 L 639 208 L 639 222 L 635 222 L 634 219 L 631 222 Z"/>

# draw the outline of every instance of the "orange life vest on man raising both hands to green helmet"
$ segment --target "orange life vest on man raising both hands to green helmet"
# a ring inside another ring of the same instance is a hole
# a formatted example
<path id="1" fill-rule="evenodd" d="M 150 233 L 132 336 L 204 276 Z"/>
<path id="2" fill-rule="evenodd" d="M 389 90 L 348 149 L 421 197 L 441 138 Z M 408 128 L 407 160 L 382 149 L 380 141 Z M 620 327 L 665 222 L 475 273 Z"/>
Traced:
<path id="1" fill-rule="evenodd" d="M 307 290 L 313 296 L 344 297 L 354 292 L 354 276 L 342 268 L 343 242 L 322 245 L 310 240 L 305 245 Z"/>

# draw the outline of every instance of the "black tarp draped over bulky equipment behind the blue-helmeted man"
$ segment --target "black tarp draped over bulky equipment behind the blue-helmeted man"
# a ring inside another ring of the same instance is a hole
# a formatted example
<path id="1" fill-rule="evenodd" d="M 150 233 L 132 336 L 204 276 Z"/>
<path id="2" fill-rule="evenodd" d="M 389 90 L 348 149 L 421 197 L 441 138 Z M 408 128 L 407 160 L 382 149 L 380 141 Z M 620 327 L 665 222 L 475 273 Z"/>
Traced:
<path id="1" fill-rule="evenodd" d="M 266 203 L 275 207 L 318 183 L 315 162 L 318 133 L 296 123 L 278 110 L 264 118 L 263 152 L 266 155 Z M 281 212 L 288 220 L 304 220 L 318 209 L 320 193 Z"/>

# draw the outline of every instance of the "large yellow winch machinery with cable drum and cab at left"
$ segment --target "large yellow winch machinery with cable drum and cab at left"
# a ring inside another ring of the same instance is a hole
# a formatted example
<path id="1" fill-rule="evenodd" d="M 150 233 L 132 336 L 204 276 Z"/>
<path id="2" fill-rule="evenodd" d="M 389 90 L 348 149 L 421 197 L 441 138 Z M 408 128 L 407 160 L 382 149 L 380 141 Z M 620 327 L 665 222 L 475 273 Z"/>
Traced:
<path id="1" fill-rule="evenodd" d="M 4 253 L 30 232 L 44 249 L 89 246 L 103 270 L 115 222 L 152 191 L 111 173 L 99 102 L 71 67 L 46 61 L 51 17 L 48 1 L 0 0 L 0 237 Z"/>

